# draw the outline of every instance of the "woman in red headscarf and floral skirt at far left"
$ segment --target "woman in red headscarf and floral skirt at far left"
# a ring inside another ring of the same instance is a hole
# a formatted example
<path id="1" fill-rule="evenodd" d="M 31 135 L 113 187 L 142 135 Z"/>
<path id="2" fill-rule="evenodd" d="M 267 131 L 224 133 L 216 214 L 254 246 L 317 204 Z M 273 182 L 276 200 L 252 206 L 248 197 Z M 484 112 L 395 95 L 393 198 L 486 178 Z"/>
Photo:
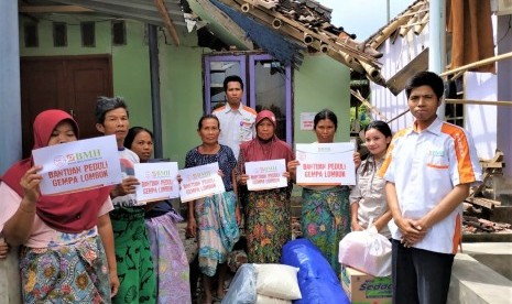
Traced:
<path id="1" fill-rule="evenodd" d="M 34 149 L 77 137 L 76 121 L 64 111 L 46 110 L 35 118 Z M 0 184 L 0 234 L 9 246 L 21 246 L 23 303 L 110 302 L 119 286 L 110 188 L 42 195 L 41 169 L 25 159 Z"/>

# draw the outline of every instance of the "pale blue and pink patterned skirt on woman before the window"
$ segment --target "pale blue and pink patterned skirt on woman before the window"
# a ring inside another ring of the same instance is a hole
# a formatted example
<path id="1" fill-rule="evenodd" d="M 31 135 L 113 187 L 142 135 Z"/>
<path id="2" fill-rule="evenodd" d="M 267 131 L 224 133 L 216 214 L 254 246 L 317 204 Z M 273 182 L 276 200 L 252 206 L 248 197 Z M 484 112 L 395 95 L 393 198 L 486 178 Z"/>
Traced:
<path id="1" fill-rule="evenodd" d="M 226 263 L 228 253 L 240 238 L 235 210 L 237 196 L 232 191 L 216 194 L 195 203 L 197 221 L 199 269 L 214 276 L 217 264 Z"/>

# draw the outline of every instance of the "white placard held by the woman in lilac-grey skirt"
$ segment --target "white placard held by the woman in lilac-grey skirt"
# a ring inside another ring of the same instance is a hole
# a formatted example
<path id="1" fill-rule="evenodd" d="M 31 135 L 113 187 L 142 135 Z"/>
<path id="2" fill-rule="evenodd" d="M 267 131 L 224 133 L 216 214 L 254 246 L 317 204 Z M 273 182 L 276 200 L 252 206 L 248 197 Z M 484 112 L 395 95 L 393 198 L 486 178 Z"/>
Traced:
<path id="1" fill-rule="evenodd" d="M 137 202 L 155 202 L 179 196 L 177 163 L 135 163 Z"/>

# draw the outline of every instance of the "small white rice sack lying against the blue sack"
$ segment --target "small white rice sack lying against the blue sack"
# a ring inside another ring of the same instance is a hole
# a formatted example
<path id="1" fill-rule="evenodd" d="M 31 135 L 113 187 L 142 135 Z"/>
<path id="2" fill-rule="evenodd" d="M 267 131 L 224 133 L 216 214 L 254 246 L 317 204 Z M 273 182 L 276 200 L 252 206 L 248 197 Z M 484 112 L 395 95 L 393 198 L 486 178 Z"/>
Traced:
<path id="1" fill-rule="evenodd" d="M 258 273 L 257 293 L 282 300 L 302 298 L 298 268 L 283 264 L 254 264 Z"/>

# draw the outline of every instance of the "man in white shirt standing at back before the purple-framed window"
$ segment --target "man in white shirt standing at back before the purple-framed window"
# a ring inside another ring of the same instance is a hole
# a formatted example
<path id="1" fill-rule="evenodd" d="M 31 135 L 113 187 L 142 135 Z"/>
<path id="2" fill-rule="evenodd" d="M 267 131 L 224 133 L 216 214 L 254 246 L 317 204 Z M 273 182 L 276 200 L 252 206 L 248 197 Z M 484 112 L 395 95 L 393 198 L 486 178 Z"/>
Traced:
<path id="1" fill-rule="evenodd" d="M 231 148 L 238 160 L 240 143 L 254 138 L 257 111 L 241 104 L 243 82 L 239 76 L 226 77 L 224 79 L 224 91 L 228 102 L 215 109 L 213 115 L 220 122 L 219 143 Z"/>

